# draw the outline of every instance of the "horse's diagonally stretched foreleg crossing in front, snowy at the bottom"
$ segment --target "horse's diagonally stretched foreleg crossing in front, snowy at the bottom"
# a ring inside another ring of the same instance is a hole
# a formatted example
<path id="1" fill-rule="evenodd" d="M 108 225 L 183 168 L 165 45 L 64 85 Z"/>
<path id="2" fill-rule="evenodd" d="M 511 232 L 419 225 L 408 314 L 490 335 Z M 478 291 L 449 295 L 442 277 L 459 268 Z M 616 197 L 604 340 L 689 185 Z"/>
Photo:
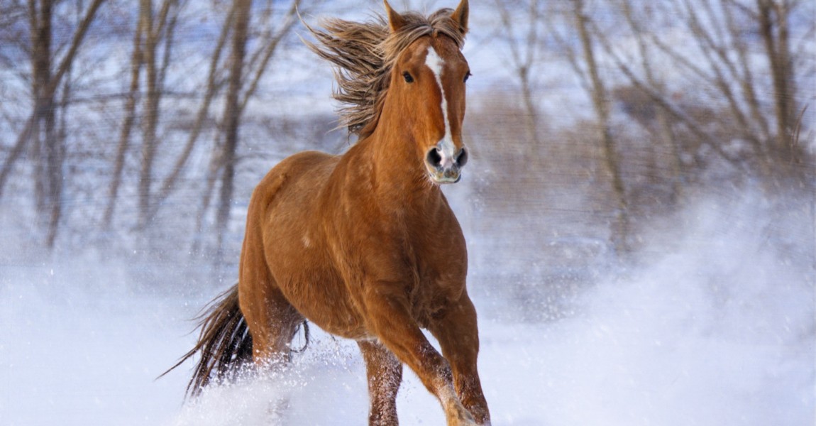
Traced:
<path id="1" fill-rule="evenodd" d="M 448 426 L 476 424 L 456 396 L 450 364 L 419 330 L 410 315 L 405 293 L 398 289 L 399 286 L 392 282 L 368 286 L 366 310 L 370 329 L 386 348 L 419 376 L 425 388 L 436 395 L 445 410 Z"/>

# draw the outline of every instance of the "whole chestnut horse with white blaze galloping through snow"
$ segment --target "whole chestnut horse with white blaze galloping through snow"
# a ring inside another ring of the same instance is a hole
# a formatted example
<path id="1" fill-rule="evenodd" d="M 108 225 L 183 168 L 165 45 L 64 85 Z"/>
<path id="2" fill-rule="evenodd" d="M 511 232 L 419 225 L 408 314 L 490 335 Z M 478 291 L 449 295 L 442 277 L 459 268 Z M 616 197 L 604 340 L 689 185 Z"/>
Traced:
<path id="1" fill-rule="evenodd" d="M 468 1 L 455 11 L 328 20 L 310 29 L 337 66 L 341 119 L 359 138 L 341 156 L 286 158 L 252 194 L 238 283 L 213 302 L 190 388 L 250 358 L 275 365 L 305 321 L 355 339 L 366 362 L 369 424 L 397 424 L 402 364 L 448 424 L 489 424 L 477 373 L 476 311 L 462 230 L 440 184 L 459 180 Z M 420 328 L 437 338 L 442 354 Z M 181 363 L 180 362 L 180 363 Z"/>

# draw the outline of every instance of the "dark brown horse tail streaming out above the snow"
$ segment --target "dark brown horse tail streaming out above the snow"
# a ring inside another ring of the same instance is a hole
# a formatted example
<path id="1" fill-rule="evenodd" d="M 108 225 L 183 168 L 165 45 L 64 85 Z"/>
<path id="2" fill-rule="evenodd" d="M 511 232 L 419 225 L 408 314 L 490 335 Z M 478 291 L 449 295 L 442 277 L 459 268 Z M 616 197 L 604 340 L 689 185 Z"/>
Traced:
<path id="1" fill-rule="evenodd" d="M 238 306 L 237 283 L 216 296 L 196 320 L 201 327 L 197 344 L 162 374 L 166 375 L 200 353 L 193 378 L 187 385 L 186 395 L 193 397 L 201 393 L 211 379 L 233 379 L 241 367 L 252 359 L 252 335 Z"/>

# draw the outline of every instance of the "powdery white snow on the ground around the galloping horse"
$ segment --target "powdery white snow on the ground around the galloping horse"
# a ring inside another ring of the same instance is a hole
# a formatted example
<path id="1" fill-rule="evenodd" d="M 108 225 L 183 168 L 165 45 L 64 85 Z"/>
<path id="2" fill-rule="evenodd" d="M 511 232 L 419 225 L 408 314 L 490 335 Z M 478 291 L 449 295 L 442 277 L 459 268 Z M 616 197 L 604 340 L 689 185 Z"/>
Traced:
<path id="1" fill-rule="evenodd" d="M 814 424 L 809 207 L 771 219 L 762 205 L 700 202 L 655 226 L 641 266 L 592 286 L 557 321 L 490 314 L 512 303 L 472 283 L 493 423 Z M 20 251 L 0 252 L 0 424 L 366 424 L 355 344 L 313 327 L 287 371 L 185 405 L 189 366 L 156 377 L 193 344 L 188 318 L 219 289 L 159 290 L 126 260 L 23 262 Z M 401 424 L 443 424 L 407 370 L 398 405 Z"/>

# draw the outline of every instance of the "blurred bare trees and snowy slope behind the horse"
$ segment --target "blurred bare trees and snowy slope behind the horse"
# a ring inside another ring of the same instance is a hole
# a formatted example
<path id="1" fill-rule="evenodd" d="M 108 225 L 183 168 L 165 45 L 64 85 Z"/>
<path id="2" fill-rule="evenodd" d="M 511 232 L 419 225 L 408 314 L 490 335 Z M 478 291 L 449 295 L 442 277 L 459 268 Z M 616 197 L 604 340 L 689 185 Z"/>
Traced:
<path id="1" fill-rule="evenodd" d="M 264 173 L 304 149 L 353 144 L 333 130 L 331 69 L 300 41 L 299 15 L 319 24 L 381 10 L 379 0 L 2 0 L 0 238 L 22 244 L 4 262 L 89 251 L 137 272 L 233 281 Z M 698 197 L 749 191 L 803 224 L 792 256 L 812 264 L 812 0 L 471 10 L 473 155 L 446 193 L 472 281 L 509 283 L 521 301 L 543 288 L 570 297 L 636 262 L 650 229 L 680 229 L 673 215 Z"/>

